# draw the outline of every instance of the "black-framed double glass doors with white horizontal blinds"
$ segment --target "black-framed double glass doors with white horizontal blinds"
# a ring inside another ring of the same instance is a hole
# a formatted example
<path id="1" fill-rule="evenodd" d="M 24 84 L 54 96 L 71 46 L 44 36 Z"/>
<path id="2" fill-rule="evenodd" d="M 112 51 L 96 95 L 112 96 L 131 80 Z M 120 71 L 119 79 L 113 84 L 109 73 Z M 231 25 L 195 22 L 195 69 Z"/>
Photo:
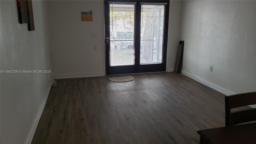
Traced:
<path id="1" fill-rule="evenodd" d="M 149 2 L 105 1 L 107 75 L 166 70 L 169 1 Z"/>

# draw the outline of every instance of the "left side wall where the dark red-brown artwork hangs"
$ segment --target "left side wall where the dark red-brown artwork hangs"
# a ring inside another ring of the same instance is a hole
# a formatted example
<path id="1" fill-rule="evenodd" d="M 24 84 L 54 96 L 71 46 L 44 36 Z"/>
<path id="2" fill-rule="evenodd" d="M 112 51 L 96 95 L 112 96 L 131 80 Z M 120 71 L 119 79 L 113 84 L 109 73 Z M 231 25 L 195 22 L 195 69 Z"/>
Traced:
<path id="1" fill-rule="evenodd" d="M 0 1 L 1 70 L 50 70 L 46 2 L 33 0 L 35 31 L 19 24 L 16 0 Z M 51 74 L 1 74 L 1 142 L 24 144 Z M 39 117 L 40 118 L 40 117 Z"/>

